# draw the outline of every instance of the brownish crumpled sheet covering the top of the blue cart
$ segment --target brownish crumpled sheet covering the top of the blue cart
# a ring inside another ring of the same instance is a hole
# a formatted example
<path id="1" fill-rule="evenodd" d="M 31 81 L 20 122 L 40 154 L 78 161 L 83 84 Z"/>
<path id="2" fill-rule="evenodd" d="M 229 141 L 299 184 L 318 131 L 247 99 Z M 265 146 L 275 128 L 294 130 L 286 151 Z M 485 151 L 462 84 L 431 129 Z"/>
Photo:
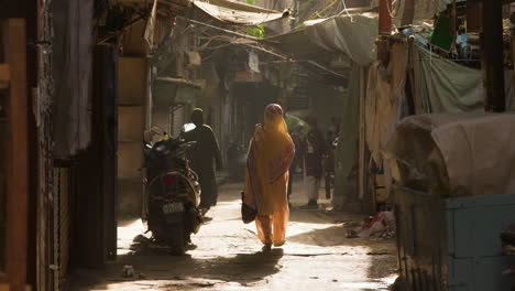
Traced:
<path id="1" fill-rule="evenodd" d="M 515 115 L 405 118 L 388 141 L 399 184 L 440 196 L 515 193 Z"/>

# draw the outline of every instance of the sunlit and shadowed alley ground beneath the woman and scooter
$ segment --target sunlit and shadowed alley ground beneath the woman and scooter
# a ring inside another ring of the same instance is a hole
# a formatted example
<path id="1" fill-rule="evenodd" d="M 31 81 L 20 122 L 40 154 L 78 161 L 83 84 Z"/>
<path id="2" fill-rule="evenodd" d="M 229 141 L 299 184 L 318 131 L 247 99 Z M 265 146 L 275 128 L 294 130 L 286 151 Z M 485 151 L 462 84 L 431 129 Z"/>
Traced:
<path id="1" fill-rule="evenodd" d="M 302 211 L 306 198 L 298 192 L 286 245 L 263 254 L 254 225 L 241 222 L 240 191 L 241 184 L 220 186 L 219 203 L 208 213 L 213 219 L 182 257 L 138 247 L 133 239 L 145 230 L 142 222 L 121 223 L 118 261 L 78 271 L 72 290 L 387 290 L 395 280 L 394 239 L 348 239 L 346 231 L 362 216 Z M 132 266 L 135 278 L 124 278 L 123 266 Z"/>

